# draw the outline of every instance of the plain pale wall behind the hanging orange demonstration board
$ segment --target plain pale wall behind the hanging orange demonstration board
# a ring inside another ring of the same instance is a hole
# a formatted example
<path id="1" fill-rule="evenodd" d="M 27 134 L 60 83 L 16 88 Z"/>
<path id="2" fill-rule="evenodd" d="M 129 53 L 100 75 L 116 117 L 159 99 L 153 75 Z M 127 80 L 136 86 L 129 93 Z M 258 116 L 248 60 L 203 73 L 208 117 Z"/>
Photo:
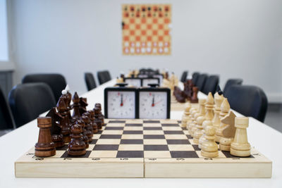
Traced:
<path id="1" fill-rule="evenodd" d="M 171 56 L 123 56 L 121 4 L 171 3 Z M 16 83 L 27 73 L 62 73 L 73 89 L 86 91 L 83 73 L 168 68 L 178 75 L 242 77 L 282 101 L 282 1 L 13 0 Z"/>

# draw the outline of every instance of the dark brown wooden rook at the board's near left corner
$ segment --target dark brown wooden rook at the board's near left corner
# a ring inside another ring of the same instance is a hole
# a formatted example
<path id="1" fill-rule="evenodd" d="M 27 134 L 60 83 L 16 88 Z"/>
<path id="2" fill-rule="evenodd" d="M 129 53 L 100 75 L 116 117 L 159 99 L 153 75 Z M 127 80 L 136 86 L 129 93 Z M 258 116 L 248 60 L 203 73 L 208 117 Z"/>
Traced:
<path id="1" fill-rule="evenodd" d="M 37 118 L 37 127 L 39 127 L 38 142 L 35 144 L 35 156 L 47 157 L 56 154 L 55 144 L 51 140 L 51 117 Z"/>

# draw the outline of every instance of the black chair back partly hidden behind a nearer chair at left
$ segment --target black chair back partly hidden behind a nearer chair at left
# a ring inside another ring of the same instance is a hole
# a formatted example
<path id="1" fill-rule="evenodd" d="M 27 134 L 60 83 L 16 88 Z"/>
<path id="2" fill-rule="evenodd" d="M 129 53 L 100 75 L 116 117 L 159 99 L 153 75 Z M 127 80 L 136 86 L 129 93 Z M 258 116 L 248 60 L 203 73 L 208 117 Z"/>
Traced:
<path id="1" fill-rule="evenodd" d="M 61 92 L 66 87 L 66 79 L 60 74 L 32 74 L 23 77 L 22 83 L 44 82 L 51 87 L 55 100 L 59 101 Z"/>

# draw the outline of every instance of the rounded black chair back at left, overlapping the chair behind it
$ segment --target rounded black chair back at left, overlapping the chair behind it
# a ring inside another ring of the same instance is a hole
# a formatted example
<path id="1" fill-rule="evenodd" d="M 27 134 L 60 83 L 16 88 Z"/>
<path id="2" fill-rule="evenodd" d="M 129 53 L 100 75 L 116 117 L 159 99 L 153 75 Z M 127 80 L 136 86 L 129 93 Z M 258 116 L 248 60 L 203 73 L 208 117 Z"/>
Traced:
<path id="1" fill-rule="evenodd" d="M 18 84 L 8 94 L 16 127 L 37 118 L 41 113 L 56 106 L 54 94 L 43 82 Z"/>

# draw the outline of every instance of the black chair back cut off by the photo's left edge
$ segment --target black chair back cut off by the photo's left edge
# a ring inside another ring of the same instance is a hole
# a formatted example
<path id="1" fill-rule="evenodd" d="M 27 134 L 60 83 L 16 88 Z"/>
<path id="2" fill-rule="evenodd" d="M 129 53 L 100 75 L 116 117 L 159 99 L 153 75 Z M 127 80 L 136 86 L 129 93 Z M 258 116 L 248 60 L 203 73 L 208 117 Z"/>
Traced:
<path id="1" fill-rule="evenodd" d="M 11 108 L 8 105 L 6 97 L 0 88 L 0 130 L 8 130 L 16 128 L 15 121 L 13 120 L 13 114 Z"/>

